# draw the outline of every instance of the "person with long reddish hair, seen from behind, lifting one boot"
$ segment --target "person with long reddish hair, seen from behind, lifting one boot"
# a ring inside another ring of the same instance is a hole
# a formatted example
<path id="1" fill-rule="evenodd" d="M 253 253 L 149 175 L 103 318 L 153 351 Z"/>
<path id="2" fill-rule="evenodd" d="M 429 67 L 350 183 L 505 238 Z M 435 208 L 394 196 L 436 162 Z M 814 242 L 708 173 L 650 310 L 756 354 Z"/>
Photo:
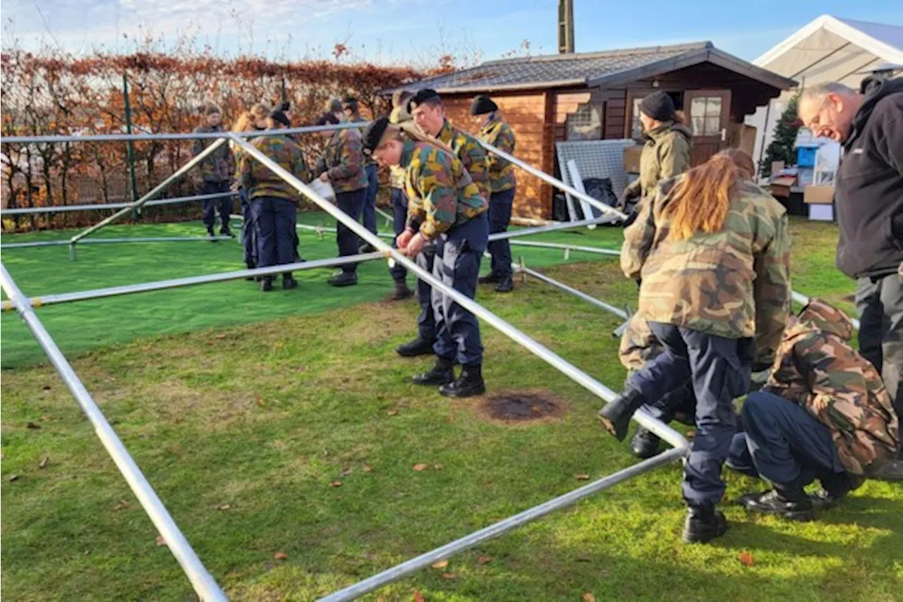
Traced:
<path id="1" fill-rule="evenodd" d="M 623 440 L 642 405 L 693 384 L 696 435 L 683 483 L 687 543 L 727 530 L 715 506 L 737 428 L 732 402 L 749 390 L 756 344 L 774 353 L 790 307 L 787 212 L 747 179 L 751 172 L 746 153 L 718 153 L 664 182 L 624 231 L 621 268 L 641 278 L 637 313 L 665 352 L 632 375 L 599 418 Z"/>

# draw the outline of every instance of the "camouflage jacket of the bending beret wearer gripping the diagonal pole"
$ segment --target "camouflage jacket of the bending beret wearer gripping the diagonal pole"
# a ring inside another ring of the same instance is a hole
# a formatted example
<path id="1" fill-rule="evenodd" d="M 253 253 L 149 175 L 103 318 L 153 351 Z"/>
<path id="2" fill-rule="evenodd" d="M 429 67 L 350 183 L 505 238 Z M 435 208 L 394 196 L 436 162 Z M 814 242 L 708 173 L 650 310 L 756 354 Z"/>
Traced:
<path id="1" fill-rule="evenodd" d="M 489 208 L 458 158 L 438 146 L 405 142 L 407 226 L 434 240 Z"/>

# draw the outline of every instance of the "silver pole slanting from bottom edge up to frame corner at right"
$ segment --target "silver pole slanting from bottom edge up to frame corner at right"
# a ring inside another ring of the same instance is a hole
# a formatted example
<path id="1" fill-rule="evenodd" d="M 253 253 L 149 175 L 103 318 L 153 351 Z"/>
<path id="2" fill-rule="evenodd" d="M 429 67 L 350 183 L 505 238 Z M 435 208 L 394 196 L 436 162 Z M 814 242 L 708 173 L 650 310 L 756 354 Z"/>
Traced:
<path id="1" fill-rule="evenodd" d="M 590 495 L 597 494 L 605 489 L 609 489 L 612 486 L 618 485 L 619 483 L 628 480 L 628 478 L 637 477 L 638 475 L 646 473 L 653 468 L 663 466 L 679 458 L 682 458 L 684 456 L 684 453 L 685 450 L 681 448 L 668 449 L 653 458 L 648 458 L 646 460 L 643 460 L 642 462 L 639 462 L 638 464 L 634 464 L 629 468 L 619 470 L 613 475 L 600 478 L 598 481 L 594 481 L 588 485 L 582 486 L 579 489 L 574 489 L 570 493 L 555 497 L 554 499 L 545 502 L 545 504 L 537 505 L 533 508 L 530 508 L 529 510 L 525 510 L 520 514 L 515 514 L 514 516 L 511 516 L 504 521 L 500 521 L 498 523 L 490 525 L 489 527 L 480 529 L 476 533 L 470 533 L 470 535 L 466 535 L 459 540 L 447 543 L 441 548 L 436 548 L 433 551 L 428 551 L 425 554 L 421 554 L 414 559 L 407 560 L 406 562 L 403 562 L 396 567 L 393 567 L 389 570 L 384 570 L 383 572 L 378 573 L 377 575 L 374 575 L 369 579 L 359 581 L 358 583 L 348 588 L 341 589 L 334 594 L 330 594 L 326 597 L 321 597 L 319 602 L 345 602 L 348 600 L 354 600 L 360 596 L 363 596 L 364 594 L 367 594 L 378 588 L 382 588 L 383 586 L 393 581 L 402 579 L 403 577 L 406 577 L 417 570 L 424 569 L 439 560 L 446 560 L 448 558 L 451 558 L 461 551 L 468 550 L 478 545 L 479 543 L 486 542 L 490 539 L 498 537 L 503 533 L 517 529 L 517 527 L 542 518 L 546 514 L 551 514 L 556 510 L 560 510 L 561 508 L 566 508 L 569 505 L 574 505 L 580 500 L 589 497 Z"/>

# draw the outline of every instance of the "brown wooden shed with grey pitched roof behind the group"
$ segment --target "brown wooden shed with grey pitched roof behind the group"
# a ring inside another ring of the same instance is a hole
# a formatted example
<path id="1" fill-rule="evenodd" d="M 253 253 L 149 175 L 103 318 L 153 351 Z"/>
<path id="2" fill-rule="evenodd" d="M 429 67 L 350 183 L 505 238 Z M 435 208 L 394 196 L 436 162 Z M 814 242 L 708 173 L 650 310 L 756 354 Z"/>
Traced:
<path id="1" fill-rule="evenodd" d="M 694 163 L 739 140 L 744 116 L 791 79 L 717 50 L 712 42 L 491 60 L 405 86 L 433 88 L 453 123 L 476 132 L 470 101 L 495 99 L 517 135 L 517 157 L 557 171 L 555 143 L 640 138 L 638 102 L 665 90 L 694 131 Z M 751 150 L 751 149 L 750 149 Z M 515 213 L 551 218 L 552 187 L 518 171 Z"/>

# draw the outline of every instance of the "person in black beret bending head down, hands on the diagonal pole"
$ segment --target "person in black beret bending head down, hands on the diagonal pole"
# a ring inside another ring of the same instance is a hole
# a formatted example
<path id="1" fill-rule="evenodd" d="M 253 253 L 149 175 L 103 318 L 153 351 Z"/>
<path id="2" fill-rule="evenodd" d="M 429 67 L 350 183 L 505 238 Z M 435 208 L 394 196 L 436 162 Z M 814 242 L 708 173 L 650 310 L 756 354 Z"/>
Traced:
<path id="1" fill-rule="evenodd" d="M 451 148 L 414 131 L 407 135 L 411 139 L 405 139 L 401 128 L 386 117 L 374 121 L 364 133 L 365 152 L 381 165 L 405 168 L 407 227 L 396 245 L 413 258 L 433 243 L 433 276 L 473 299 L 479 264 L 489 242 L 489 204 Z M 436 363 L 428 372 L 414 376 L 414 384 L 438 384 L 439 393 L 447 397 L 485 393 L 476 316 L 435 289 L 433 313 Z M 457 379 L 456 363 L 462 366 Z"/>

